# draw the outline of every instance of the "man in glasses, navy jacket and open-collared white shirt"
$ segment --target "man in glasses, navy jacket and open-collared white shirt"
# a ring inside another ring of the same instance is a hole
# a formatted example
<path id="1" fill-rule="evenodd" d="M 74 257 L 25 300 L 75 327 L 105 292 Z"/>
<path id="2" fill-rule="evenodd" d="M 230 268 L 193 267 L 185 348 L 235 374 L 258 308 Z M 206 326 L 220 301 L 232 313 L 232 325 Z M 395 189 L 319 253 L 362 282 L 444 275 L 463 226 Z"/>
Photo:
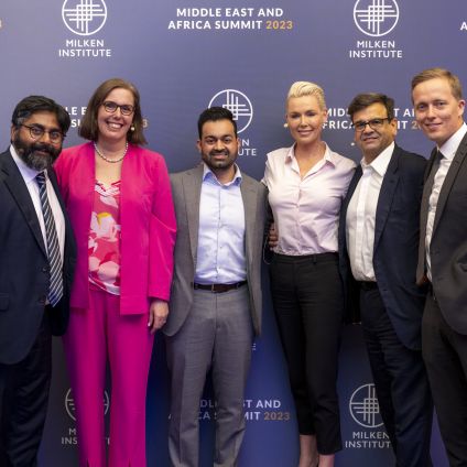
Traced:
<path id="1" fill-rule="evenodd" d="M 347 306 L 361 316 L 379 406 L 398 467 L 431 465 L 432 400 L 421 355 L 424 293 L 415 283 L 425 160 L 394 143 L 394 101 L 360 94 L 348 113 L 363 159 L 343 203 Z"/>

